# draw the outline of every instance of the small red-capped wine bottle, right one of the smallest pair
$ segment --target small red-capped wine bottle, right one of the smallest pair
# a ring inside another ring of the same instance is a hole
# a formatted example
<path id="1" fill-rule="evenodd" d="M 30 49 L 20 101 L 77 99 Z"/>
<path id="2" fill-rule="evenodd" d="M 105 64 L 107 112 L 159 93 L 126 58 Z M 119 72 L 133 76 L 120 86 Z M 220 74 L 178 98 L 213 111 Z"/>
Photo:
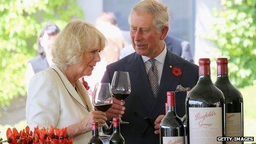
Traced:
<path id="1" fill-rule="evenodd" d="M 113 134 L 109 140 L 110 144 L 124 144 L 125 139 L 120 133 L 120 118 L 113 118 Z"/>

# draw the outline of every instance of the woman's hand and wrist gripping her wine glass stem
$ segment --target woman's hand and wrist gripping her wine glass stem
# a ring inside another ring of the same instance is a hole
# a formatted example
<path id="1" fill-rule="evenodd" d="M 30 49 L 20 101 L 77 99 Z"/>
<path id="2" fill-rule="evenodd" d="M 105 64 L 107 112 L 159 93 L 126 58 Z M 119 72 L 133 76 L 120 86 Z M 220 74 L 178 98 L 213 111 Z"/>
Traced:
<path id="1" fill-rule="evenodd" d="M 106 114 L 102 111 L 90 111 L 90 113 L 78 125 L 82 134 L 92 130 L 92 122 L 98 121 L 99 127 L 102 127 L 106 122 Z"/>

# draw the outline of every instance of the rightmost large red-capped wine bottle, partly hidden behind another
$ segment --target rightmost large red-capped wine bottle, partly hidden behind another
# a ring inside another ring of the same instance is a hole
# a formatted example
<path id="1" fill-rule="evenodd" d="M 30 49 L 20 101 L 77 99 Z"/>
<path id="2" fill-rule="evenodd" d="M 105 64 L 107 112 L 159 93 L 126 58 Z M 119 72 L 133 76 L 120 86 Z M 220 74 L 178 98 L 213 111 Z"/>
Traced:
<path id="1" fill-rule="evenodd" d="M 215 86 L 225 97 L 226 104 L 226 136 L 243 136 L 243 97 L 228 79 L 227 58 L 217 58 L 217 80 Z M 234 142 L 227 142 L 234 143 Z M 242 142 L 236 142 L 242 143 Z"/>

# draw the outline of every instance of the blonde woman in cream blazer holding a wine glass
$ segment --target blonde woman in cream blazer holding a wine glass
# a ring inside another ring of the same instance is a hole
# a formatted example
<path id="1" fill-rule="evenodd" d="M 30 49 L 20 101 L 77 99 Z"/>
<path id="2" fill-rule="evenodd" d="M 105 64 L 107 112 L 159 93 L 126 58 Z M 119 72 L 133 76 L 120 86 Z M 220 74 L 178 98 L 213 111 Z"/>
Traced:
<path id="1" fill-rule="evenodd" d="M 102 111 L 94 111 L 87 90 L 78 79 L 90 76 L 106 39 L 98 29 L 81 20 L 69 22 L 52 44 L 52 62 L 31 78 L 26 100 L 26 121 L 33 129 L 67 127 L 74 143 L 88 143 L 92 122 L 103 126 Z"/>

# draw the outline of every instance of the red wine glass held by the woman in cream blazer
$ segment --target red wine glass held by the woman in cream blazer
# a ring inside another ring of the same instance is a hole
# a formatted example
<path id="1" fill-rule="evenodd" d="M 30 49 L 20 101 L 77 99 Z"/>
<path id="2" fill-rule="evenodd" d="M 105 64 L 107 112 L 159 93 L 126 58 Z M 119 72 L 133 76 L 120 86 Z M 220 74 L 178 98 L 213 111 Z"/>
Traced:
<path id="1" fill-rule="evenodd" d="M 94 88 L 93 106 L 95 110 L 107 111 L 113 104 L 113 94 L 111 92 L 110 83 L 97 83 Z M 102 127 L 99 127 L 99 136 L 106 138 L 109 135 L 106 135 L 102 131 Z"/>

